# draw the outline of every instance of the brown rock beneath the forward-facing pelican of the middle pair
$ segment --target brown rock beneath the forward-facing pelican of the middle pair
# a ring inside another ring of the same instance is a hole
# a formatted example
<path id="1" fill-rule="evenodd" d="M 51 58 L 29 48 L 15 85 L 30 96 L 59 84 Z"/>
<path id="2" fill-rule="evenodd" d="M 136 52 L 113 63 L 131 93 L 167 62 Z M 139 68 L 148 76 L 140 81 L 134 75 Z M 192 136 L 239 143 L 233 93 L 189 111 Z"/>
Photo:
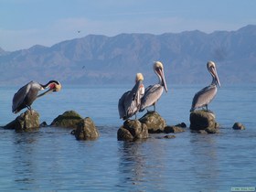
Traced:
<path id="1" fill-rule="evenodd" d="M 148 138 L 147 126 L 138 120 L 126 120 L 117 132 L 118 141 L 134 141 Z"/>

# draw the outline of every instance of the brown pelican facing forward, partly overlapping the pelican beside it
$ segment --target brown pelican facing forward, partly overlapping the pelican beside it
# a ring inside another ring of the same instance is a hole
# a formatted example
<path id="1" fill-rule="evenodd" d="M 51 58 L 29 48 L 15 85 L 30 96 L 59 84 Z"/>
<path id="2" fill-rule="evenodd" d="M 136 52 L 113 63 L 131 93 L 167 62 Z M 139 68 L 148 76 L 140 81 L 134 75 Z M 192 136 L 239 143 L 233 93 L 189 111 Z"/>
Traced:
<path id="1" fill-rule="evenodd" d="M 120 119 L 126 120 L 132 117 L 139 111 L 141 99 L 144 96 L 144 76 L 142 73 L 136 74 L 135 85 L 132 91 L 123 93 L 123 96 L 118 101 L 118 112 Z"/>

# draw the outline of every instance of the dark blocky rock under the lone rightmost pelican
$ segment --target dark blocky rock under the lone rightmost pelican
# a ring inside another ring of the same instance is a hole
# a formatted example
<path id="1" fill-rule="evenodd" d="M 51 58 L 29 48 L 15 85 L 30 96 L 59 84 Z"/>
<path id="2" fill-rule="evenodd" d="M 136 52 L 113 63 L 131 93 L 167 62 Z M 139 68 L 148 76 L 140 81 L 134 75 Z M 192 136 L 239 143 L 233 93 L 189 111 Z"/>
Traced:
<path id="1" fill-rule="evenodd" d="M 207 111 L 195 111 L 190 113 L 190 129 L 194 131 L 205 130 L 207 133 L 219 133 L 216 130 L 218 123 L 215 114 Z"/>

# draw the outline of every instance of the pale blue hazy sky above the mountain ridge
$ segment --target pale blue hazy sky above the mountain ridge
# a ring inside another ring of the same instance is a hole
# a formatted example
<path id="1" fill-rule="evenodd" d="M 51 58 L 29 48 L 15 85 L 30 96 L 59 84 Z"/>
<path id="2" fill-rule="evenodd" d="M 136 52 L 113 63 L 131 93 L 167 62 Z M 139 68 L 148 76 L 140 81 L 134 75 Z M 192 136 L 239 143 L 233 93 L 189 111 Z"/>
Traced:
<path id="1" fill-rule="evenodd" d="M 256 24 L 255 8 L 255 0 L 0 0 L 0 48 L 91 34 L 233 31 Z"/>

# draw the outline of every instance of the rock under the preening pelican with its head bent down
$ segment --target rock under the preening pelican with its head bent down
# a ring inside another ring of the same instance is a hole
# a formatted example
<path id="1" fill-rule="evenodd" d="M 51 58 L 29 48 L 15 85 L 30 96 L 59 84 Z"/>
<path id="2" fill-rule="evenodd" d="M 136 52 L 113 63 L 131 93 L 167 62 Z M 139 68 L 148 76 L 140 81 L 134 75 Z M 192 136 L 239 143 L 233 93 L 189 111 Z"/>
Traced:
<path id="1" fill-rule="evenodd" d="M 39 128 L 39 114 L 34 110 L 21 113 L 16 119 L 5 125 L 5 129 L 15 129 L 16 132 L 33 131 Z"/>

